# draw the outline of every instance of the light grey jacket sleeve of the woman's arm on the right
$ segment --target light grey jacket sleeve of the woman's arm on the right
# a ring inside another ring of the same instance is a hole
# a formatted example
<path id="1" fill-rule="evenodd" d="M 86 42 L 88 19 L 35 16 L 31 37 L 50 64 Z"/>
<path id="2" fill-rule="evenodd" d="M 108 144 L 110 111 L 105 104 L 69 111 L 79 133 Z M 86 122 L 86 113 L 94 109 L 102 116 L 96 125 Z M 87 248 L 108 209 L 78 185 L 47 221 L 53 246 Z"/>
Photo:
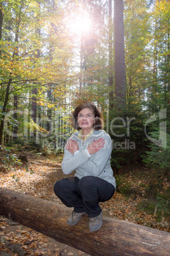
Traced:
<path id="1" fill-rule="evenodd" d="M 88 161 L 81 164 L 82 171 L 86 171 L 89 175 L 100 175 L 103 169 L 105 169 L 108 160 L 110 160 L 110 155 L 112 153 L 112 141 L 110 136 L 103 136 L 103 138 L 105 138 L 105 146 L 98 152 L 94 153 L 93 157 L 89 158 Z"/>

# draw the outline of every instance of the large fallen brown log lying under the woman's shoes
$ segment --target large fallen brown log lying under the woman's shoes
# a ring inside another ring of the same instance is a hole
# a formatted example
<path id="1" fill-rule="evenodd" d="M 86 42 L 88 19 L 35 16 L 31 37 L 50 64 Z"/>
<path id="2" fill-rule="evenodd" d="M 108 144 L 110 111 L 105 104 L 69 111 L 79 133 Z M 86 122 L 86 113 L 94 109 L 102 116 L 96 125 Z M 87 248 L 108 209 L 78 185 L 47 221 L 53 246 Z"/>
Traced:
<path id="1" fill-rule="evenodd" d="M 169 255 L 169 232 L 108 217 L 103 217 L 99 231 L 89 232 L 88 217 L 74 227 L 67 225 L 71 211 L 62 204 L 0 188 L 0 215 L 90 255 Z"/>

